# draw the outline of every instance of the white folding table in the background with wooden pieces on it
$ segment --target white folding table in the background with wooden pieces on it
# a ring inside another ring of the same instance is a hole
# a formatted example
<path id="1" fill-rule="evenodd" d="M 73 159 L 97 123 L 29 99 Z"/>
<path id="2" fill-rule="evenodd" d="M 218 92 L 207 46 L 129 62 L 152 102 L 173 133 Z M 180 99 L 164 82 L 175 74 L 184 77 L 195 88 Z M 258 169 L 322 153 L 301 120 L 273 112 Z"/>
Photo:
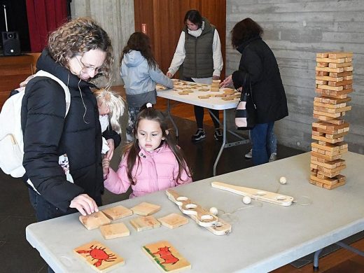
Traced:
<path id="1" fill-rule="evenodd" d="M 212 110 L 222 110 L 223 111 L 223 143 L 221 144 L 220 151 L 218 152 L 218 155 L 216 157 L 216 160 L 214 162 L 214 176 L 216 176 L 216 167 L 218 165 L 218 160 L 221 158 L 221 154 L 223 153 L 224 148 L 237 146 L 241 144 L 247 144 L 249 142 L 248 139 L 244 139 L 243 137 L 239 136 L 239 134 L 236 134 L 235 132 L 232 132 L 230 130 L 227 130 L 226 125 L 226 110 L 228 109 L 235 109 L 237 107 L 237 104 L 239 102 L 239 98 L 233 99 L 231 101 L 225 101 L 221 97 L 210 97 L 209 99 L 200 99 L 199 96 L 205 96 L 207 94 L 223 94 L 223 91 L 225 89 L 230 88 L 220 88 L 219 92 L 203 92 L 198 91 L 199 88 L 194 88 L 195 85 L 200 85 L 199 83 L 192 83 L 185 80 L 179 80 L 181 82 L 187 83 L 188 86 L 193 90 L 192 93 L 186 95 L 186 94 L 179 94 L 180 91 L 169 89 L 169 90 L 158 90 L 157 95 L 158 97 L 162 97 L 167 99 L 167 115 L 169 119 L 172 121 L 172 124 L 174 125 L 174 129 L 176 130 L 176 136 L 179 136 L 179 130 L 176 126 L 176 123 L 174 123 L 174 120 L 171 116 L 171 104 L 169 103 L 169 100 L 174 100 L 176 102 L 183 102 L 186 104 L 192 104 L 196 106 L 202 106 L 204 108 L 212 109 Z M 210 111 L 211 113 L 211 111 Z M 211 113 L 212 114 L 212 113 Z M 214 116 L 214 114 L 212 114 Z M 214 118 L 218 120 L 215 116 Z M 220 121 L 219 121 L 220 123 Z M 239 141 L 234 142 L 228 142 L 228 139 L 226 137 L 226 132 L 230 132 L 231 134 L 235 135 L 239 139 Z"/>

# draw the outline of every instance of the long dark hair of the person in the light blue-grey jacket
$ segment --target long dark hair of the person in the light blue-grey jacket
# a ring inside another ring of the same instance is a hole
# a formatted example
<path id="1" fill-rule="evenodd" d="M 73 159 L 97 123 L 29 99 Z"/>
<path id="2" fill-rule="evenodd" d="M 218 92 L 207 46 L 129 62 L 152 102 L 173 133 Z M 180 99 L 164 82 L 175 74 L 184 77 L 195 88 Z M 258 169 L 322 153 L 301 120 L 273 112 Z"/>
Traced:
<path id="1" fill-rule="evenodd" d="M 120 65 L 123 61 L 124 55 L 129 53 L 130 50 L 137 50 L 141 52 L 141 55 L 146 58 L 149 67 L 155 69 L 157 67 L 157 62 L 155 62 L 152 46 L 151 46 L 151 38 L 143 32 L 134 32 L 130 35 L 129 40 L 127 41 L 127 45 L 123 48 L 120 57 Z"/>

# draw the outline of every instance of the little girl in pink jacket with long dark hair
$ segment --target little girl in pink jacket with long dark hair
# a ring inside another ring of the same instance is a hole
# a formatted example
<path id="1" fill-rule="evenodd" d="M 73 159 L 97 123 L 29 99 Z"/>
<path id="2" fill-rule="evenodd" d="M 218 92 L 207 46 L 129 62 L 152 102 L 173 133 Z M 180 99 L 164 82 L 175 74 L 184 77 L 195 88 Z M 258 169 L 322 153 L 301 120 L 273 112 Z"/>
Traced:
<path id="1" fill-rule="evenodd" d="M 104 158 L 104 186 L 111 193 L 125 193 L 132 186 L 130 197 L 137 197 L 192 182 L 183 153 L 167 130 L 165 116 L 152 104 L 137 116 L 134 142 L 125 149 L 117 172 Z"/>

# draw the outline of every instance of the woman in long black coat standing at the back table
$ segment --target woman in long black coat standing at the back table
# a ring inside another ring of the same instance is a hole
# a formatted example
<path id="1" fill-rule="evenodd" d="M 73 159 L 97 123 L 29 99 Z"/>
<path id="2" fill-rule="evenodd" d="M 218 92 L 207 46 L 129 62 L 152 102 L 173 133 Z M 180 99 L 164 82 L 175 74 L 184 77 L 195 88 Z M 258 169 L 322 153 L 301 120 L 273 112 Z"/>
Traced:
<path id="1" fill-rule="evenodd" d="M 251 130 L 254 165 L 268 162 L 271 154 L 268 138 L 274 121 L 288 116 L 279 67 L 272 50 L 262 41 L 262 33 L 260 25 L 251 18 L 246 18 L 233 27 L 232 46 L 241 53 L 239 70 L 225 78 L 221 84 L 223 87 L 233 84 L 236 89 L 251 86 L 257 109 L 257 124 Z"/>

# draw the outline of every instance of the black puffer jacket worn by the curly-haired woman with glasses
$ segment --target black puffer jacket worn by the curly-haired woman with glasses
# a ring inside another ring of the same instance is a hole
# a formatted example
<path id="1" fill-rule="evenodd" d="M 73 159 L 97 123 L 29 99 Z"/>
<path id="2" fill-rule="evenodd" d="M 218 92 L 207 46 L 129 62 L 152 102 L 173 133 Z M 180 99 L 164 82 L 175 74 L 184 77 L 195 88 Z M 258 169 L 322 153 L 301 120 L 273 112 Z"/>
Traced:
<path id="1" fill-rule="evenodd" d="M 71 106 L 64 118 L 64 90 L 55 80 L 36 77 L 27 84 L 21 113 L 25 176 L 45 200 L 66 212 L 77 195 L 86 193 L 94 200 L 101 200 L 104 191 L 99 111 L 90 90 L 94 85 L 55 63 L 47 50 L 43 50 L 36 66 L 69 86 Z M 106 131 L 104 137 L 114 139 L 116 146 L 120 144 L 116 132 Z M 64 153 L 69 158 L 74 184 L 66 181 L 58 164 L 59 155 Z"/>

